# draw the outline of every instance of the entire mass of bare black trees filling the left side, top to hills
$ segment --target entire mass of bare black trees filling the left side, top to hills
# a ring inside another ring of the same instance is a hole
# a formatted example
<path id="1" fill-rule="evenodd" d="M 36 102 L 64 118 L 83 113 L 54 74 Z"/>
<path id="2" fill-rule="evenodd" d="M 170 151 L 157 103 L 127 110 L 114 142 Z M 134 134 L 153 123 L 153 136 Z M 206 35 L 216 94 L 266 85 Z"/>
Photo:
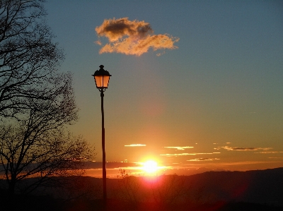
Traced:
<path id="1" fill-rule="evenodd" d="M 0 174 L 13 194 L 51 176 L 81 174 L 93 147 L 64 132 L 77 120 L 70 73 L 59 73 L 62 49 L 45 23 L 43 0 L 0 1 Z M 23 187 L 20 181 L 37 176 Z"/>

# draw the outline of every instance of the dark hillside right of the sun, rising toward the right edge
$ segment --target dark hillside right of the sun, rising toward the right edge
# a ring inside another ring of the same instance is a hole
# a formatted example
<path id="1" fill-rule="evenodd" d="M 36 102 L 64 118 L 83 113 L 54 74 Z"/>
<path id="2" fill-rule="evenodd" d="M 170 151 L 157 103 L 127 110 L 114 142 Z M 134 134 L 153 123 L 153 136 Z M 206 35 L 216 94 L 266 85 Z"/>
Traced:
<path id="1" fill-rule="evenodd" d="M 187 176 L 192 188 L 203 187 L 215 200 L 283 206 L 283 168 L 255 171 L 207 171 Z"/>

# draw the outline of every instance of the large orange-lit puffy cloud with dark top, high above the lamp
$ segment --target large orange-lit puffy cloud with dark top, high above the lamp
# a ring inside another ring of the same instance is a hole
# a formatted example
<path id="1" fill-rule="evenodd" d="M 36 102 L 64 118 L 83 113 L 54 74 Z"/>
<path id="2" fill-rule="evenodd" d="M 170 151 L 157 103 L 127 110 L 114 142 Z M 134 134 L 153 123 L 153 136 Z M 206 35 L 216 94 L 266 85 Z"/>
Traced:
<path id="1" fill-rule="evenodd" d="M 106 37 L 109 42 L 100 49 L 99 54 L 120 53 L 140 56 L 150 48 L 154 51 L 178 48 L 174 45 L 179 41 L 178 37 L 167 34 L 154 35 L 151 25 L 144 20 L 105 19 L 102 25 L 96 27 L 96 32 L 98 34 L 96 44 L 102 45 L 100 37 Z M 157 55 L 160 56 L 161 53 Z"/>

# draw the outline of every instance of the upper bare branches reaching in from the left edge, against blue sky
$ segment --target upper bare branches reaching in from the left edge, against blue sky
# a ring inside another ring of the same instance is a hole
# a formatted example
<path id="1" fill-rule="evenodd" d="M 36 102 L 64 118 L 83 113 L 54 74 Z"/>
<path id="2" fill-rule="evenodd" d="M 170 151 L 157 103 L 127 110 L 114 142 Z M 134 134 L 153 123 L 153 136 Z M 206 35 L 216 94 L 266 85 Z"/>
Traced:
<path id="1" fill-rule="evenodd" d="M 42 0 L 0 1 L 0 115 L 21 119 L 30 99 L 62 92 L 57 67 L 64 54 L 45 23 Z"/>

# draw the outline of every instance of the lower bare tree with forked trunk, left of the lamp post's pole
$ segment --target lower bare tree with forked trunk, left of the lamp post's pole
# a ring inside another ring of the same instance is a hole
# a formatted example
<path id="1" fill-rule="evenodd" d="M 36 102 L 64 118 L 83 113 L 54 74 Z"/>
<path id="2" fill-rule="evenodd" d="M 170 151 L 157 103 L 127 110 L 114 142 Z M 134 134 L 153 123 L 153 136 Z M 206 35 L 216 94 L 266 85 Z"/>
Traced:
<path id="1" fill-rule="evenodd" d="M 50 99 L 28 98 L 30 109 L 17 119 L 6 118 L 0 127 L 0 163 L 8 191 L 28 193 L 46 184 L 51 176 L 80 175 L 83 161 L 93 159 L 94 149 L 86 140 L 64 133 L 64 127 L 77 119 L 71 74 L 58 75 L 61 92 Z M 21 118 L 21 121 L 18 119 Z M 28 186 L 20 181 L 36 176 Z"/>

